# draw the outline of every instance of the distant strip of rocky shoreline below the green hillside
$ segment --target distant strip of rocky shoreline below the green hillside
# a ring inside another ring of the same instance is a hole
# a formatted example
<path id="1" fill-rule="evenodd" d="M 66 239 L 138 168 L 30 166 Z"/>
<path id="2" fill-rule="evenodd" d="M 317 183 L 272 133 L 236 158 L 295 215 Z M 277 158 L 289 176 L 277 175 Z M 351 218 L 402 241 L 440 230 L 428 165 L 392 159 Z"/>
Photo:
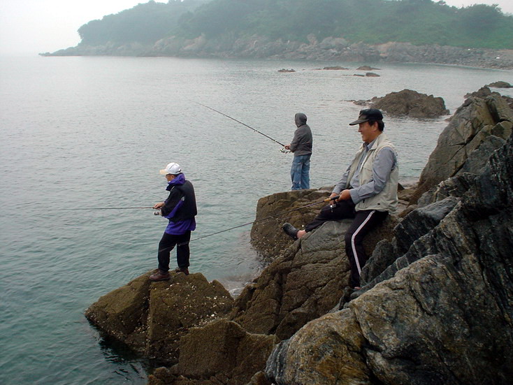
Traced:
<path id="1" fill-rule="evenodd" d="M 412 45 L 389 42 L 379 45 L 349 43 L 345 38 L 328 37 L 317 41 L 308 36 L 308 43 L 269 40 L 262 36 L 249 38 L 219 37 L 180 38 L 171 36 L 150 45 L 130 43 L 119 45 L 84 45 L 43 56 L 171 56 L 259 59 L 308 59 L 336 61 L 367 61 L 394 63 L 436 63 L 483 68 L 513 68 L 513 50 L 461 48 L 442 45 Z"/>

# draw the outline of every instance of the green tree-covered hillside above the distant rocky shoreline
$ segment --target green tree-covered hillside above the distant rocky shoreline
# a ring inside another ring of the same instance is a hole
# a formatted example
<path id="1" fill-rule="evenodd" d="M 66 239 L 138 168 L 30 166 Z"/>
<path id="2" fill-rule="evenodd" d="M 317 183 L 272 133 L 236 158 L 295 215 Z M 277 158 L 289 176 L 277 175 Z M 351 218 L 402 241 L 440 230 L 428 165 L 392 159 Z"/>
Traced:
<path id="1" fill-rule="evenodd" d="M 203 3 L 201 6 L 199 4 Z M 197 7 L 197 8 L 196 8 Z M 286 41 L 410 42 L 513 48 L 513 17 L 496 6 L 431 0 L 198 0 L 139 4 L 80 27 L 82 43 L 152 43 L 166 36 L 264 36 Z"/>

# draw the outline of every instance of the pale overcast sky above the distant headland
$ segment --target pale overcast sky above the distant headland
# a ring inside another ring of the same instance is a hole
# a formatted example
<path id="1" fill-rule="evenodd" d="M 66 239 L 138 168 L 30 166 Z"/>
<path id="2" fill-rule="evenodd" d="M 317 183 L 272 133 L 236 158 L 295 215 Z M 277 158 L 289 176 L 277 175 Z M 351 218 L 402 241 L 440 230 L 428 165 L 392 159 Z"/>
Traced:
<path id="1" fill-rule="evenodd" d="M 513 13 L 512 0 L 446 2 L 458 8 L 496 3 L 503 12 Z M 77 45 L 82 24 L 138 3 L 147 0 L 0 0 L 0 55 L 37 55 Z"/>

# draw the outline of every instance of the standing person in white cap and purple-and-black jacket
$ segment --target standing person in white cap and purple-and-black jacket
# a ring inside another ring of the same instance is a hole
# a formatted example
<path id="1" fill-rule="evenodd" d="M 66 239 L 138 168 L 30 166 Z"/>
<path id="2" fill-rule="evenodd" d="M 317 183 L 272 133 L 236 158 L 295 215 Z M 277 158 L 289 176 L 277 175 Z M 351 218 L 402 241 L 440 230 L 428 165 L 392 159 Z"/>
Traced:
<path id="1" fill-rule="evenodd" d="M 185 179 L 182 168 L 178 164 L 170 163 L 160 170 L 166 176 L 169 196 L 166 201 L 157 203 L 154 209 L 160 209 L 161 215 L 169 219 L 168 226 L 159 242 L 159 271 L 150 275 L 152 281 L 165 281 L 169 276 L 169 254 L 176 247 L 178 268 L 176 273 L 189 274 L 189 240 L 191 231 L 196 229 L 194 217 L 196 209 L 196 196 L 192 183 Z"/>

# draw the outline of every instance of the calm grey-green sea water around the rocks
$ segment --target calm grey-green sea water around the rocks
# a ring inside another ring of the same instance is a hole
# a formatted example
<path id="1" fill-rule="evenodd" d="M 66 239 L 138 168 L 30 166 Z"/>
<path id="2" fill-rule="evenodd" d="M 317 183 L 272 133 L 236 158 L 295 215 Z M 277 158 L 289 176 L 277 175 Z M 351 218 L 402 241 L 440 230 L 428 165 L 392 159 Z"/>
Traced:
<path id="1" fill-rule="evenodd" d="M 513 82 L 512 71 L 450 66 L 379 64 L 380 78 L 315 70 L 328 65 L 361 64 L 0 58 L 0 383 L 145 383 L 144 361 L 103 341 L 83 312 L 156 268 L 166 221 L 153 210 L 75 209 L 151 206 L 166 197 L 158 170 L 175 161 L 196 187 L 198 238 L 254 220 L 258 198 L 290 188 L 291 154 L 195 102 L 282 143 L 305 112 L 312 187 L 322 187 L 359 146 L 347 123 L 360 107 L 347 100 L 409 88 L 442 96 L 452 113 L 465 93 Z M 386 117 L 403 181 L 419 176 L 446 124 Z M 240 288 L 259 268 L 249 231 L 193 242 L 191 270 Z"/>

